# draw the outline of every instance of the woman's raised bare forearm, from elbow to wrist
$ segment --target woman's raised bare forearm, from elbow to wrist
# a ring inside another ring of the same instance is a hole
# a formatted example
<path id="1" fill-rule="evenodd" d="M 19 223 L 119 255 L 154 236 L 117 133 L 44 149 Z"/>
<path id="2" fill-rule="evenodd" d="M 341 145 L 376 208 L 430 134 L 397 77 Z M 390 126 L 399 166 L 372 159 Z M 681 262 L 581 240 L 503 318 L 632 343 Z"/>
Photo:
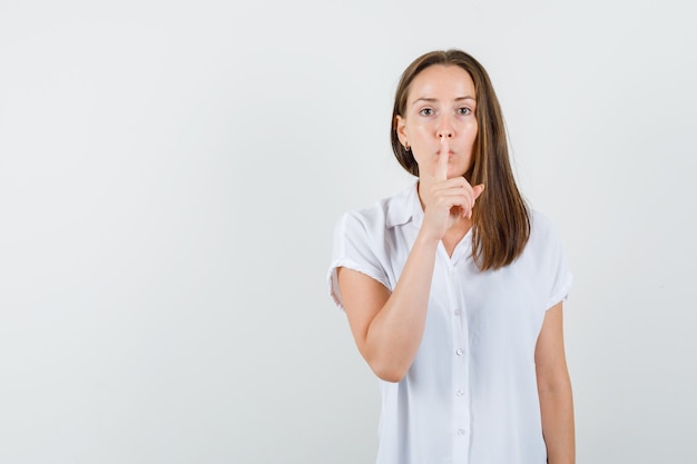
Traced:
<path id="1" fill-rule="evenodd" d="M 381 378 L 399 382 L 416 356 L 439 241 L 419 235 L 394 290 L 367 327 L 364 356 Z"/>

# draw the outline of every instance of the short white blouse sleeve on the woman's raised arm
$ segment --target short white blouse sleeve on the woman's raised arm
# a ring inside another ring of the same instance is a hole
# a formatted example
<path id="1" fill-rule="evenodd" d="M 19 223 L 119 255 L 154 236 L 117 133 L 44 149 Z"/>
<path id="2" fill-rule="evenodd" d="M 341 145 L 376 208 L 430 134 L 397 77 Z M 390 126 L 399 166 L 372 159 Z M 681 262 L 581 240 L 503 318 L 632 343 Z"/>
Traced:
<path id="1" fill-rule="evenodd" d="M 334 228 L 332 263 L 327 273 L 327 280 L 330 296 L 342 310 L 344 306 L 336 277 L 336 270 L 340 267 L 365 274 L 390 288 L 387 275 L 376 253 L 376 246 L 382 240 L 374 236 L 376 229 L 384 230 L 384 225 L 383 227 L 375 226 L 366 224 L 366 220 L 356 213 L 346 213 L 338 219 Z"/>

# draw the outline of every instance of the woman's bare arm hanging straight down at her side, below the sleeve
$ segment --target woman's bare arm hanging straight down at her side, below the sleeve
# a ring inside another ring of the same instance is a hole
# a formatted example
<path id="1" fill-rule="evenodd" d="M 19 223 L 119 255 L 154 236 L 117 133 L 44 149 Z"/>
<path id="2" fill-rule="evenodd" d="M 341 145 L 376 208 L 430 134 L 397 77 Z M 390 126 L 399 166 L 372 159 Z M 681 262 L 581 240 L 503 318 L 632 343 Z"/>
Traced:
<path id="1" fill-rule="evenodd" d="M 547 310 L 534 348 L 542 434 L 549 464 L 575 464 L 573 398 L 563 349 L 562 304 Z"/>

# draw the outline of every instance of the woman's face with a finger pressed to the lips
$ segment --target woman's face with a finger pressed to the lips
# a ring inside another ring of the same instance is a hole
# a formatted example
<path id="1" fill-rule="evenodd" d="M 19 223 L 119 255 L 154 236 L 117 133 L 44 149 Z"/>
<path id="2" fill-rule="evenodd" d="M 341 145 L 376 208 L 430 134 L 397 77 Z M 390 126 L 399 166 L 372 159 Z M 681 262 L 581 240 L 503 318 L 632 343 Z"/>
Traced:
<path id="1" fill-rule="evenodd" d="M 450 149 L 448 178 L 470 170 L 478 130 L 474 96 L 470 73 L 459 66 L 433 65 L 412 80 L 396 130 L 400 142 L 411 147 L 420 177 L 435 176 L 443 138 Z"/>

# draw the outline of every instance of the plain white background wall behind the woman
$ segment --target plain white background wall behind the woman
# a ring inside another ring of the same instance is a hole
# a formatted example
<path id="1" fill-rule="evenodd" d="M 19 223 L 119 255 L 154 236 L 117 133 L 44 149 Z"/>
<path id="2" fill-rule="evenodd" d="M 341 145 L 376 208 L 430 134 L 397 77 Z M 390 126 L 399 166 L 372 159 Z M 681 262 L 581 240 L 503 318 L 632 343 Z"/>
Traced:
<path id="1" fill-rule="evenodd" d="M 373 462 L 332 229 L 450 47 L 565 239 L 579 462 L 697 461 L 689 2 L 110 3 L 0 2 L 0 463 Z"/>

